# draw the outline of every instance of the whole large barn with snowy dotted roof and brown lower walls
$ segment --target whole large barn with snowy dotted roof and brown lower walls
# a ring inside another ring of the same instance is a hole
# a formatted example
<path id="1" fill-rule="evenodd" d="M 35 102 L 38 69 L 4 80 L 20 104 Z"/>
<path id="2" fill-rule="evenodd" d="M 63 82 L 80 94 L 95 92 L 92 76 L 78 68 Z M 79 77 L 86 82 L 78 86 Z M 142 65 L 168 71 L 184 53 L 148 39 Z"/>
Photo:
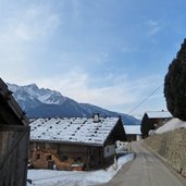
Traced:
<path id="1" fill-rule="evenodd" d="M 38 119 L 30 123 L 30 166 L 98 169 L 113 163 L 116 140 L 125 140 L 119 117 Z"/>

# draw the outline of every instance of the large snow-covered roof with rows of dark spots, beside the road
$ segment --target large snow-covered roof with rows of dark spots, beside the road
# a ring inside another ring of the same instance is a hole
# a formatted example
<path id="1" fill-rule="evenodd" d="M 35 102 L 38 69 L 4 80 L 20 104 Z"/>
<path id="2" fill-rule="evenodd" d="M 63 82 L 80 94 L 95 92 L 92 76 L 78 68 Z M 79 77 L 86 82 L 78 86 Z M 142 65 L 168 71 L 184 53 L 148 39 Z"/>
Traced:
<path id="1" fill-rule="evenodd" d="M 119 117 L 37 119 L 30 123 L 30 140 L 76 142 L 102 146 L 116 125 Z"/>

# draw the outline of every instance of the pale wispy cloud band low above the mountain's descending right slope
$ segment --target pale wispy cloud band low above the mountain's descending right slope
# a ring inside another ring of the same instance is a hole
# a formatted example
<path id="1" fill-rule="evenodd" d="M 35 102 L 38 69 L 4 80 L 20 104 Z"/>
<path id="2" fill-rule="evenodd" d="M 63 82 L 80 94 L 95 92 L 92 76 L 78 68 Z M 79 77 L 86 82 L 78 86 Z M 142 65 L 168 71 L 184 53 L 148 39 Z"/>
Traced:
<path id="1" fill-rule="evenodd" d="M 149 89 L 157 86 L 158 76 L 148 76 L 131 80 L 127 75 L 110 74 L 106 77 L 90 77 L 83 71 L 71 71 L 62 76 L 38 79 L 39 86 L 50 87 L 61 91 L 79 102 L 88 102 L 103 108 L 115 108 L 134 104 L 144 99 Z M 99 86 L 98 86 L 99 82 Z M 95 86 L 97 85 L 97 86 Z"/>

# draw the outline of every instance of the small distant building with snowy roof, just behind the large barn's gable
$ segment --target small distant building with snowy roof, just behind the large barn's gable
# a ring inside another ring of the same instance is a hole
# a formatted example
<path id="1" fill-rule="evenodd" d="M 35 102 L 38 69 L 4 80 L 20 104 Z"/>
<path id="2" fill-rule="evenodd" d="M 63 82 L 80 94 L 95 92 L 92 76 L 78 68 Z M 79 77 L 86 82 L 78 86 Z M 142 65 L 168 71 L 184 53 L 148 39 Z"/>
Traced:
<path id="1" fill-rule="evenodd" d="M 139 140 L 141 139 L 140 125 L 125 125 L 126 140 Z"/>

